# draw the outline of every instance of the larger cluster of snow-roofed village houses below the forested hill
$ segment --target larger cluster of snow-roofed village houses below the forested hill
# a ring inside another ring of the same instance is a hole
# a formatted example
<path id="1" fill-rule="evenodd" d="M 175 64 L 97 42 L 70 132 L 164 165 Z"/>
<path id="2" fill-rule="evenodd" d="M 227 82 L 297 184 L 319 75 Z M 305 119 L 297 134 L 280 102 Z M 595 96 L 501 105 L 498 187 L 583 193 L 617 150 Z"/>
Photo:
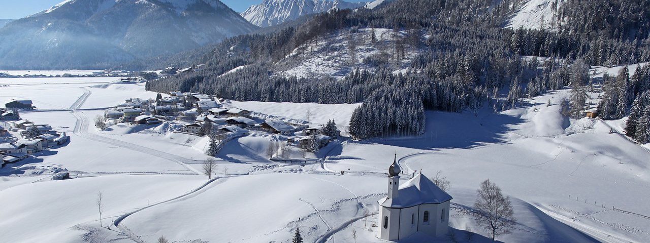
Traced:
<path id="1" fill-rule="evenodd" d="M 133 131 L 142 131 L 165 125 L 171 132 L 196 137 L 207 137 L 205 154 L 216 157 L 226 143 L 244 136 L 273 135 L 270 138 L 268 159 L 283 162 L 305 162 L 317 159 L 320 148 L 340 137 L 333 121 L 313 124 L 301 121 L 283 121 L 254 111 L 231 106 L 229 100 L 201 93 L 174 91 L 158 94 L 155 99 L 128 98 L 122 104 L 96 117 L 96 128 L 110 130 L 110 126 L 127 125 Z M 108 129 L 107 129 L 108 128 Z"/>

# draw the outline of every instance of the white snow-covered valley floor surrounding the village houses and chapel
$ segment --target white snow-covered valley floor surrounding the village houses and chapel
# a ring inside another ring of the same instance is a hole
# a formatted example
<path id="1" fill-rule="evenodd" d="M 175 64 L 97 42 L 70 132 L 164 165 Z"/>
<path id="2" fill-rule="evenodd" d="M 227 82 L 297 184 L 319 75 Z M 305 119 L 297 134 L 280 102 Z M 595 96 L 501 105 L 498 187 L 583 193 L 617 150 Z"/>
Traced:
<path id="1" fill-rule="evenodd" d="M 0 241 L 155 242 L 164 235 L 170 242 L 288 242 L 298 227 L 305 242 L 354 242 L 353 231 L 356 242 L 383 242 L 372 225 L 397 154 L 402 181 L 415 170 L 429 178 L 441 171 L 451 181 L 450 231 L 459 242 L 467 242 L 468 231 L 477 233 L 471 242 L 491 242 L 473 219 L 476 189 L 485 179 L 515 209 L 517 224 L 497 237 L 502 242 L 650 242 L 650 220 L 615 210 L 650 214 L 649 150 L 620 134 L 625 119 L 560 115 L 566 89 L 501 113 L 427 111 L 424 135 L 341 139 L 307 154 L 322 158 L 311 163 L 269 161 L 269 141 L 281 136 L 253 131 L 224 146 L 209 180 L 201 172 L 207 139 L 170 133 L 177 124 L 94 128 L 104 108 L 156 96 L 144 84 L 114 81 L 0 78 L 0 99 L 34 100 L 38 110 L 21 113 L 23 119 L 70 136 L 62 146 L 0 168 Z M 345 130 L 359 104 L 229 106 L 263 119 L 335 119 Z M 50 179 L 66 170 L 72 179 Z M 400 240 L 432 241 L 453 242 L 422 234 Z"/>

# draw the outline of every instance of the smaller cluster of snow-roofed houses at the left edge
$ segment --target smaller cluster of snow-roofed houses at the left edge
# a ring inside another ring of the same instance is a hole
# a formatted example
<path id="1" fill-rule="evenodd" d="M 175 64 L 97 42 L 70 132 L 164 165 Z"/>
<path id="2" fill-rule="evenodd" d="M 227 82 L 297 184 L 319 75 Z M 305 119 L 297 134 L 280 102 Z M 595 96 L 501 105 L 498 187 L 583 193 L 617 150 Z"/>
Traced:
<path id="1" fill-rule="evenodd" d="M 0 108 L 1 167 L 37 157 L 40 152 L 68 141 L 65 132 L 55 131 L 49 124 L 20 119 L 19 112 L 33 109 L 31 100 L 9 100 L 5 108 Z"/>

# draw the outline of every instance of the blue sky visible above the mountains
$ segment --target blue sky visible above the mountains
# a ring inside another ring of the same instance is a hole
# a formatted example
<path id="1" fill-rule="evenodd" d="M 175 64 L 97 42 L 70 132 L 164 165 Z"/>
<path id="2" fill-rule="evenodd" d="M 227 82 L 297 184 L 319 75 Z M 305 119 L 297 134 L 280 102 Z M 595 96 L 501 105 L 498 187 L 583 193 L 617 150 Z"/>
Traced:
<path id="1" fill-rule="evenodd" d="M 19 19 L 57 5 L 63 0 L 0 0 L 0 19 Z M 250 5 L 262 0 L 221 0 L 237 12 L 244 12 Z M 349 0 L 348 0 L 349 1 Z M 352 0 L 349 2 L 359 2 Z"/>

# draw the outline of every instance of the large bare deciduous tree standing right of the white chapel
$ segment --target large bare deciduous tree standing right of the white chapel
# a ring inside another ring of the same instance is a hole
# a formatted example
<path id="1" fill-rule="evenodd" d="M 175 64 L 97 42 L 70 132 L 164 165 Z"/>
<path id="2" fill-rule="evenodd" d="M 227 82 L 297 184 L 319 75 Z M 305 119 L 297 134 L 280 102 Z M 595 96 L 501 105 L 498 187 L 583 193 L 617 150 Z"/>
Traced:
<path id="1" fill-rule="evenodd" d="M 515 224 L 510 198 L 504 197 L 495 183 L 486 179 L 481 183 L 474 207 L 479 211 L 476 221 L 479 226 L 491 232 L 492 240 L 497 235 L 507 235 Z"/>

